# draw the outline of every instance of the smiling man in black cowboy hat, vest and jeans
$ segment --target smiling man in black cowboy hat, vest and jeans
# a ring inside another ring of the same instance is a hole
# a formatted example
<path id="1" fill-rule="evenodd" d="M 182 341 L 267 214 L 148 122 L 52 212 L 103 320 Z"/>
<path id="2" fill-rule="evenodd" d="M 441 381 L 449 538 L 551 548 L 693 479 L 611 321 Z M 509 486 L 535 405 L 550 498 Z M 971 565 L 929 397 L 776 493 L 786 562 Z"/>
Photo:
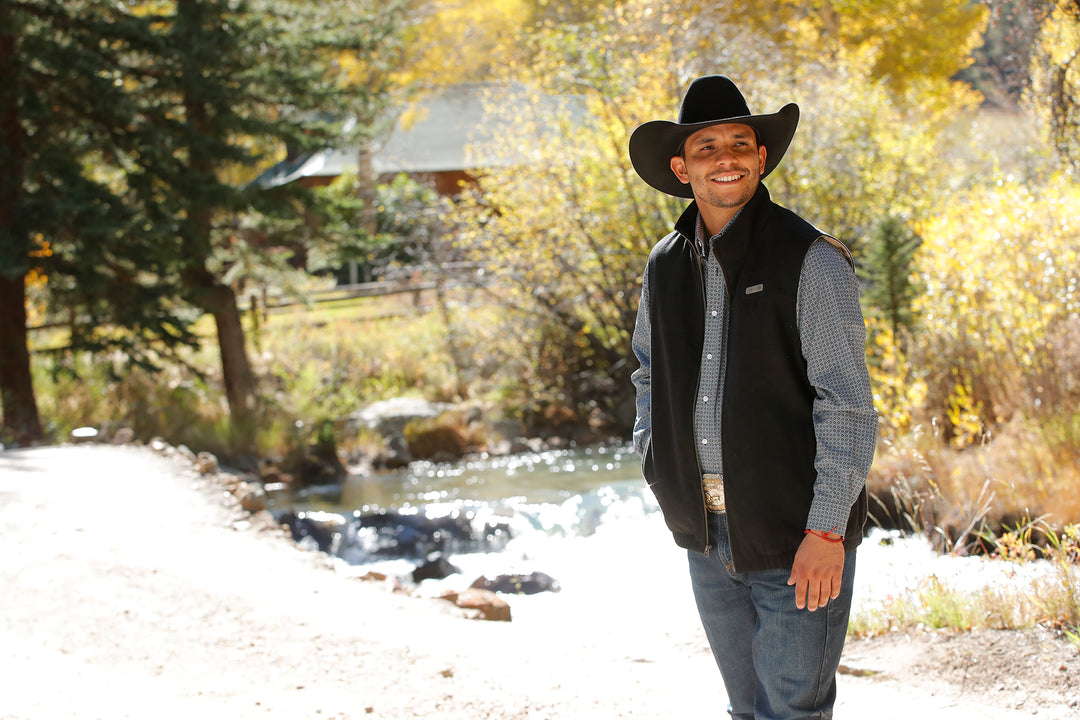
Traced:
<path id="1" fill-rule="evenodd" d="M 634 444 L 738 719 L 832 717 L 877 437 L 851 256 L 761 184 L 798 117 L 710 76 L 630 139 L 693 199 L 642 283 Z"/>

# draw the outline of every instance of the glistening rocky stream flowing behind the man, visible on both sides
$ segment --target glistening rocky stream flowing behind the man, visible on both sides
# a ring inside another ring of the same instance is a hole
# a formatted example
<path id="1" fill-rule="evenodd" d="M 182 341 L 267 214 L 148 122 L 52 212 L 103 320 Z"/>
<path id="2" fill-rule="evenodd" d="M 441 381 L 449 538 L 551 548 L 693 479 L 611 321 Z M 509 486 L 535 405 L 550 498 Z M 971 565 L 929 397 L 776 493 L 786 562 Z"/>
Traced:
<path id="1" fill-rule="evenodd" d="M 340 573 L 378 572 L 432 596 L 482 576 L 541 573 L 554 584 L 539 589 L 558 592 L 515 597 L 515 621 L 566 621 L 567 613 L 580 621 L 595 611 L 625 613 L 633 623 L 643 609 L 663 608 L 697 623 L 686 552 L 673 542 L 629 445 L 413 463 L 340 486 L 269 494 L 275 515 L 321 529 L 319 538 L 298 541 L 329 553 Z M 453 566 L 448 574 L 414 576 L 433 554 Z M 879 612 L 928 582 L 1024 592 L 1052 575 L 1044 561 L 939 555 L 926 538 L 872 528 L 859 551 L 854 609 Z"/>

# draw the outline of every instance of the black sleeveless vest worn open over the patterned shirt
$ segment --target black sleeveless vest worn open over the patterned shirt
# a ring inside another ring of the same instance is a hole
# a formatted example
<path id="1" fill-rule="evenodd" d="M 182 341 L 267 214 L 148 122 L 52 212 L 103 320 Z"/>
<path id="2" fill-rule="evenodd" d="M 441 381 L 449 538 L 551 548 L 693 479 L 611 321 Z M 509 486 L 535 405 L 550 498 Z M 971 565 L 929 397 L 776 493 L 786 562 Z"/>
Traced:
<path id="1" fill-rule="evenodd" d="M 649 256 L 652 435 L 643 471 L 676 543 L 710 545 L 693 429 L 704 344 L 704 275 L 693 247 L 698 208 Z M 815 391 L 796 318 L 799 274 L 822 232 L 769 199 L 765 186 L 715 247 L 728 286 L 720 433 L 732 559 L 740 572 L 789 568 L 816 479 Z M 842 532 L 862 540 L 865 490 Z"/>

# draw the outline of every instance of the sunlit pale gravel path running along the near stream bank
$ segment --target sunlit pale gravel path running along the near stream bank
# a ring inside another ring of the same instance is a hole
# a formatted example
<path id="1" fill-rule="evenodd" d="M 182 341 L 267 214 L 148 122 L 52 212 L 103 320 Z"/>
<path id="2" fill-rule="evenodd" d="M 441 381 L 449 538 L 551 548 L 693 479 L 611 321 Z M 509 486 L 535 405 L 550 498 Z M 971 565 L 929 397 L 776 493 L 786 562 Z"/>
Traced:
<path id="1" fill-rule="evenodd" d="M 726 717 L 703 639 L 663 609 L 467 620 L 336 574 L 225 494 L 141 447 L 0 451 L 0 719 Z M 1067 692 L 987 695 L 927 667 L 941 643 L 851 643 L 837 717 L 1077 717 Z"/>

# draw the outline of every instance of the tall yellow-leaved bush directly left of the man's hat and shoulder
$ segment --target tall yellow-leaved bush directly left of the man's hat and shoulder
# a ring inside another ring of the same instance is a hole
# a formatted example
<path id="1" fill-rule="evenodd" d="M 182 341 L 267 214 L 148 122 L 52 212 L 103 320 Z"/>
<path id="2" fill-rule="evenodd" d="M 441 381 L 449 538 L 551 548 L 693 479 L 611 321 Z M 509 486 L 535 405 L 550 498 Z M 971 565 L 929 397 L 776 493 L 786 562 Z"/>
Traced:
<path id="1" fill-rule="evenodd" d="M 553 28 L 530 62 L 507 64 L 514 82 L 489 103 L 500 133 L 484 151 L 504 165 L 456 207 L 459 247 L 507 309 L 512 341 L 491 351 L 519 368 L 535 405 L 582 411 L 595 383 L 613 397 L 629 386 L 644 257 L 684 204 L 646 187 L 626 155 L 634 126 L 671 116 L 679 92 L 679 33 L 654 31 L 656 4 L 622 3 L 588 32 Z"/>

